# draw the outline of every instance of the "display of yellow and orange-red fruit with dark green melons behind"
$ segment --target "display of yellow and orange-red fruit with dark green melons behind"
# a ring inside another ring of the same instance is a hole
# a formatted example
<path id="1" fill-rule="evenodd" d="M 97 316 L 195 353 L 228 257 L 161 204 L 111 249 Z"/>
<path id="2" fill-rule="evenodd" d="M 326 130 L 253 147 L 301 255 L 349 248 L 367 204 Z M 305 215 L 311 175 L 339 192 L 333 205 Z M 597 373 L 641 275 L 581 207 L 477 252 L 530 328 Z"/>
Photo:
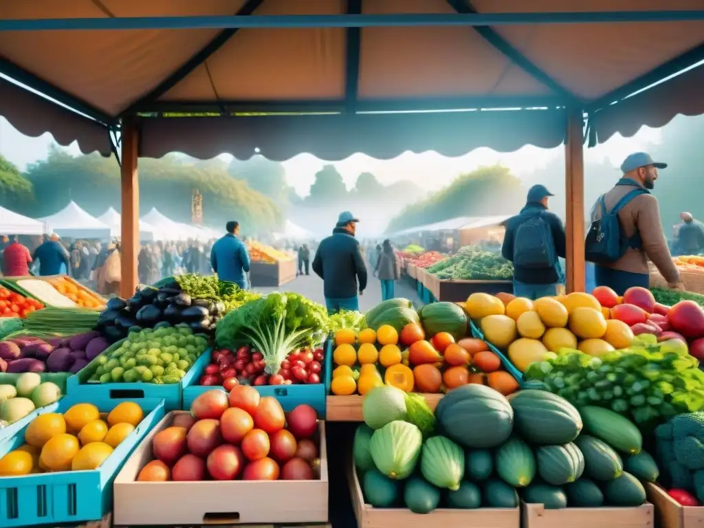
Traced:
<path id="1" fill-rule="evenodd" d="M 421 393 L 433 406 L 465 384 L 487 384 L 506 395 L 518 389 L 503 363 L 513 365 L 482 339 L 467 337 L 467 315 L 454 303 L 433 303 L 417 313 L 410 301 L 391 299 L 370 310 L 366 324 L 360 332 L 334 335 L 328 420 L 359 420 L 361 396 L 384 384 Z"/>

